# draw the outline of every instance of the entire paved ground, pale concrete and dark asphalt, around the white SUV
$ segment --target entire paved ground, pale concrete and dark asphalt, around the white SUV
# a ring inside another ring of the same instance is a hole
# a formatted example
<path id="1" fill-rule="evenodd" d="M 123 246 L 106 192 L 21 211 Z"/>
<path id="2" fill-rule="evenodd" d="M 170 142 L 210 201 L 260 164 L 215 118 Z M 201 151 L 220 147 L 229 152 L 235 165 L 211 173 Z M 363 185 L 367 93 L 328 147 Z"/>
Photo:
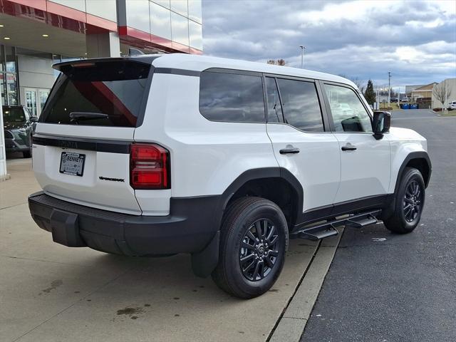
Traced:
<path id="1" fill-rule="evenodd" d="M 398 111 L 393 125 L 428 139 L 420 227 L 405 236 L 383 224 L 347 229 L 337 252 L 341 235 L 292 240 L 273 289 L 249 301 L 194 276 L 185 255 L 53 243 L 28 213 L 26 197 L 39 190 L 31 160 L 13 156 L 11 180 L 0 183 L 0 341 L 452 341 L 456 118 Z"/>

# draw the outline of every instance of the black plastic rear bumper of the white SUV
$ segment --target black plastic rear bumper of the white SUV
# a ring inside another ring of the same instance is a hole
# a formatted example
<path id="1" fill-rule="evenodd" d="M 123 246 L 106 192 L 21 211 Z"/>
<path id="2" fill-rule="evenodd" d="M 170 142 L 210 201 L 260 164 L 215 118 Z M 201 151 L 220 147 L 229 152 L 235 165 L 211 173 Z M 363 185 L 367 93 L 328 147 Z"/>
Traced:
<path id="1" fill-rule="evenodd" d="M 169 216 L 151 217 L 93 209 L 44 192 L 28 197 L 33 220 L 54 242 L 129 256 L 204 251 L 218 237 L 218 202 L 218 196 L 172 198 Z"/>

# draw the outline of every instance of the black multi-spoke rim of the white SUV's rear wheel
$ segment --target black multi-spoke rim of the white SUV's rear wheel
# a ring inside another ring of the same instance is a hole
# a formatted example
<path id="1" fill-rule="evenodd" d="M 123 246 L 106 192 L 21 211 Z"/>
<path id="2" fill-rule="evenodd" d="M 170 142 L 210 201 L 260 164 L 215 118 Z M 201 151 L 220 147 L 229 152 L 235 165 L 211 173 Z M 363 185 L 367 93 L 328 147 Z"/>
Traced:
<path id="1" fill-rule="evenodd" d="M 269 219 L 255 221 L 242 238 L 241 271 L 249 281 L 260 281 L 271 273 L 279 257 L 279 234 Z"/>

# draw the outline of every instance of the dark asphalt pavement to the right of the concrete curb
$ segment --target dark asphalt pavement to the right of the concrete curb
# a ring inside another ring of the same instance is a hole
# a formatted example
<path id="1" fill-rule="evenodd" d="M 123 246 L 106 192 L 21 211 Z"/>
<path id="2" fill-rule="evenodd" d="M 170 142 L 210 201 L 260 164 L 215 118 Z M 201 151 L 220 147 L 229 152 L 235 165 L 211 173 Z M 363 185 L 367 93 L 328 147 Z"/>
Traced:
<path id="1" fill-rule="evenodd" d="M 391 125 L 427 138 L 420 225 L 346 229 L 301 341 L 456 341 L 456 117 L 403 110 Z"/>

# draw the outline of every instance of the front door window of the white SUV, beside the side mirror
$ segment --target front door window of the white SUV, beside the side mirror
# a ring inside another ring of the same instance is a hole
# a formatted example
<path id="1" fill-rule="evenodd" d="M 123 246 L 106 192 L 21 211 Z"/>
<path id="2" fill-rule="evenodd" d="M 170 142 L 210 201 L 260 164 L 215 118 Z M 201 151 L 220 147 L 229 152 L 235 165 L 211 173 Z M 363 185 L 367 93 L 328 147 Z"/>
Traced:
<path id="1" fill-rule="evenodd" d="M 372 132 L 371 118 L 350 88 L 325 84 L 336 132 Z"/>

